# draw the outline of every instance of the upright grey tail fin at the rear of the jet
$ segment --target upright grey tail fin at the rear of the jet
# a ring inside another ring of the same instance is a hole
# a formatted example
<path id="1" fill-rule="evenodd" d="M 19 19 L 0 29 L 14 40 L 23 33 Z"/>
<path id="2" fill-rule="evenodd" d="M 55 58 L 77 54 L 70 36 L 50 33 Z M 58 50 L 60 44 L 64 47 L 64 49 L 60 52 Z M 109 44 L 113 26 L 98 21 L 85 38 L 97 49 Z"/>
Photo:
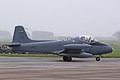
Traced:
<path id="1" fill-rule="evenodd" d="M 16 26 L 12 43 L 29 43 L 31 39 L 28 38 L 23 26 Z"/>

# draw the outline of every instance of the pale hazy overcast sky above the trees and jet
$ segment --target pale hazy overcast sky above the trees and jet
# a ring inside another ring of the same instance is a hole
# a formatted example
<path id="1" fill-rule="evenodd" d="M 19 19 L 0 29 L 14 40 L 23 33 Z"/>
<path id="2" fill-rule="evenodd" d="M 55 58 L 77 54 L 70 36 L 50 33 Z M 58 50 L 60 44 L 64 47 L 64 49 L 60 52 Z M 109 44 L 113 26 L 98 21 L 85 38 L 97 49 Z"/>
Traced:
<path id="1" fill-rule="evenodd" d="M 120 0 L 0 0 L 0 29 L 16 25 L 55 35 L 112 36 L 120 30 Z"/>

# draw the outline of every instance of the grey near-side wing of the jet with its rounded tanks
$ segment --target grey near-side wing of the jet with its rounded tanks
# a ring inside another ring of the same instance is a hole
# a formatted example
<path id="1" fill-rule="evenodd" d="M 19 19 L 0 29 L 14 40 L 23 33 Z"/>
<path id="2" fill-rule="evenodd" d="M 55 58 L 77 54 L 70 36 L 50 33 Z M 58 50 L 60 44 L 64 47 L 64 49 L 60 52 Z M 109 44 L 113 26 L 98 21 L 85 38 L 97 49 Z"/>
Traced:
<path id="1" fill-rule="evenodd" d="M 58 51 L 58 55 L 60 56 L 69 56 L 69 57 L 77 57 L 77 58 L 88 58 L 93 55 L 90 53 L 84 52 L 85 49 L 91 48 L 89 44 L 68 44 L 64 45 L 64 50 L 61 52 Z"/>

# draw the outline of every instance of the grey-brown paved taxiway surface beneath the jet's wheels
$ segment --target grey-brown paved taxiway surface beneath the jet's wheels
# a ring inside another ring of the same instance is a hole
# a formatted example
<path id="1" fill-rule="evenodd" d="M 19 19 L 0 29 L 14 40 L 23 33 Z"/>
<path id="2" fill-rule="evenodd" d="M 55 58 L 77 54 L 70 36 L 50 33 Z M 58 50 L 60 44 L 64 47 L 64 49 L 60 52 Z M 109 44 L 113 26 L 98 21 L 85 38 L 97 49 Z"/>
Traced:
<path id="1" fill-rule="evenodd" d="M 120 80 L 120 59 L 0 57 L 0 80 Z"/>

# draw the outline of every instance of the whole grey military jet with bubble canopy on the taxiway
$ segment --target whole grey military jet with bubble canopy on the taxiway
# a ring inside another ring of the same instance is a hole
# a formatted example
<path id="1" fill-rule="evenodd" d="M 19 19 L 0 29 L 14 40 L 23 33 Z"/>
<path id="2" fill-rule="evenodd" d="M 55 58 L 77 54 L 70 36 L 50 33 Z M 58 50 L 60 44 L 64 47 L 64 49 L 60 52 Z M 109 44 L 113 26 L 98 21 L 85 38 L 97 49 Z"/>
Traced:
<path id="1" fill-rule="evenodd" d="M 36 52 L 63 56 L 63 61 L 72 58 L 90 58 L 112 52 L 112 47 L 90 36 L 79 36 L 68 40 L 31 40 L 23 26 L 16 26 L 12 43 L 13 52 Z M 100 61 L 100 56 L 96 57 Z"/>

